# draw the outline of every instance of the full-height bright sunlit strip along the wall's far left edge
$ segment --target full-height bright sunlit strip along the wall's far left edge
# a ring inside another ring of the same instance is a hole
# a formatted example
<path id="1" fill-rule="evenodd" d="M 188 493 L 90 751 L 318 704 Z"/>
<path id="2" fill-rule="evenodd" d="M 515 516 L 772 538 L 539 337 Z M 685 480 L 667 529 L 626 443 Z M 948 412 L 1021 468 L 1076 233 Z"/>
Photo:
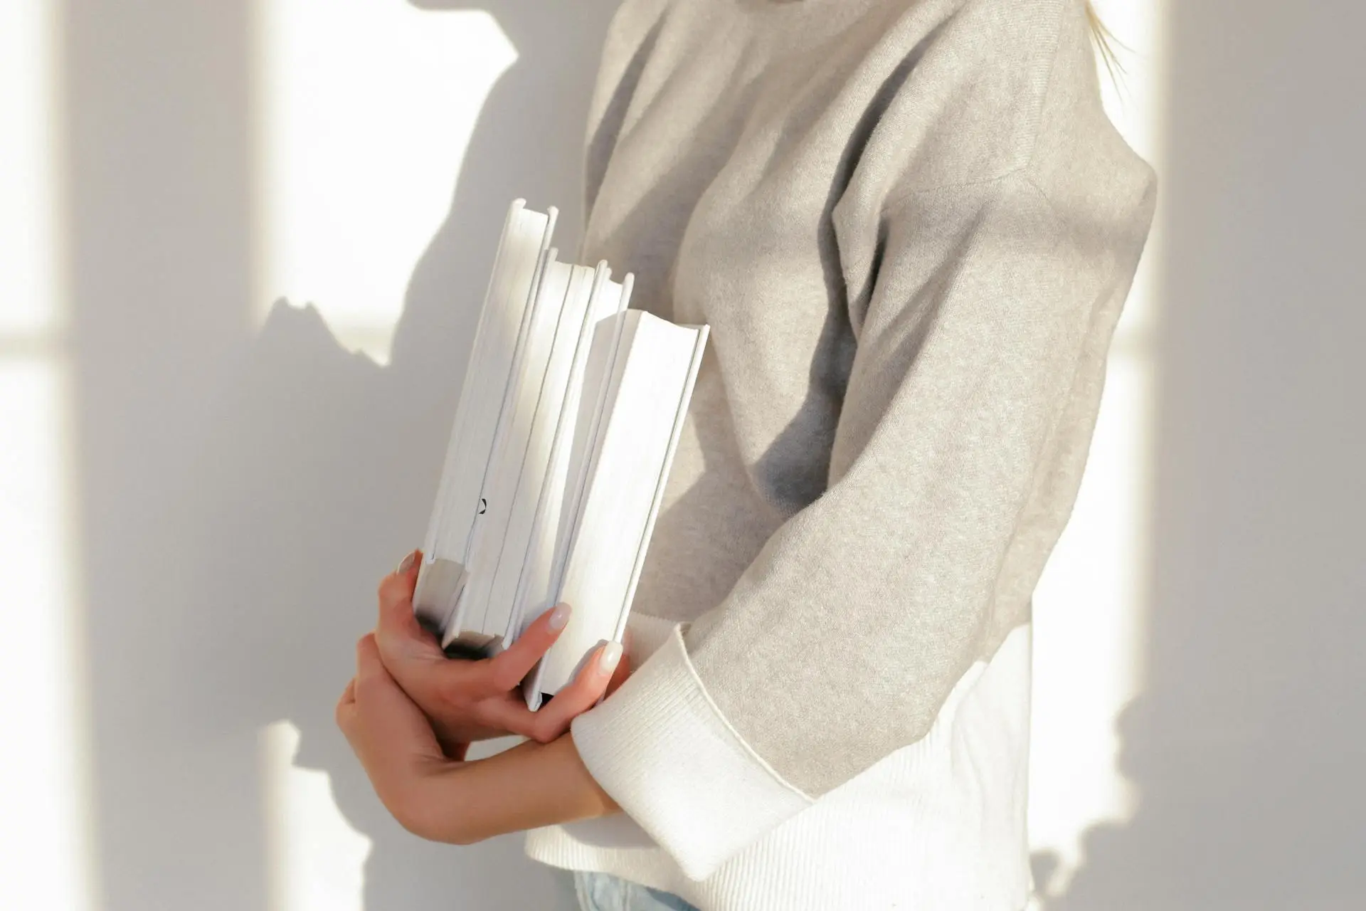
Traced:
<path id="1" fill-rule="evenodd" d="M 0 908 L 96 907 L 56 4 L 0 4 Z"/>

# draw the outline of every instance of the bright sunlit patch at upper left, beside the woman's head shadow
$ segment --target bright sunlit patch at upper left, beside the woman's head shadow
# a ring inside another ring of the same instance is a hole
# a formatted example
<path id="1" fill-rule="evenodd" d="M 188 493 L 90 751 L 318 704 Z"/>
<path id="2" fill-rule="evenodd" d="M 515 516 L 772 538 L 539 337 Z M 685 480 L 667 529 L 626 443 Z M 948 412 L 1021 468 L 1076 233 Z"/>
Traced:
<path id="1" fill-rule="evenodd" d="M 408 277 L 451 206 L 489 89 L 516 60 L 482 11 L 258 0 L 260 325 L 314 305 L 387 363 Z"/>

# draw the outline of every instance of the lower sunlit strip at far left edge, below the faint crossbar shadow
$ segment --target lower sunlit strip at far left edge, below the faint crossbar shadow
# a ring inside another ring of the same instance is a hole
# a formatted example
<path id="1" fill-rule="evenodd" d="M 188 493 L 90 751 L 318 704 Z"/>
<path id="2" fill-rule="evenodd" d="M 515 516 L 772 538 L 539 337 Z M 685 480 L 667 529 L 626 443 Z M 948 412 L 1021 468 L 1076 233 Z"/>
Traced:
<path id="1" fill-rule="evenodd" d="M 96 907 L 67 374 L 60 356 L 0 355 L 0 908 Z"/>

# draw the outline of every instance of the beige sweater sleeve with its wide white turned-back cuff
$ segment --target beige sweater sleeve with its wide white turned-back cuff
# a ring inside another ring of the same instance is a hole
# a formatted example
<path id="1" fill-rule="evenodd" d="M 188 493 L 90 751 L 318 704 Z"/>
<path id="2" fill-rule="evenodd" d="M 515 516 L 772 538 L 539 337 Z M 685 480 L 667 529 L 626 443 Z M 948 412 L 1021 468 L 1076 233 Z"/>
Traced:
<path id="1" fill-rule="evenodd" d="M 1001 601 L 1027 617 L 1075 497 L 1040 493 L 1057 430 L 1085 459 L 1152 217 L 1137 183 L 1059 208 L 1012 172 L 884 208 L 870 291 L 850 295 L 826 492 L 572 724 L 594 779 L 686 875 L 922 738 L 989 657 Z M 1022 559 L 1029 585 L 1003 591 Z"/>

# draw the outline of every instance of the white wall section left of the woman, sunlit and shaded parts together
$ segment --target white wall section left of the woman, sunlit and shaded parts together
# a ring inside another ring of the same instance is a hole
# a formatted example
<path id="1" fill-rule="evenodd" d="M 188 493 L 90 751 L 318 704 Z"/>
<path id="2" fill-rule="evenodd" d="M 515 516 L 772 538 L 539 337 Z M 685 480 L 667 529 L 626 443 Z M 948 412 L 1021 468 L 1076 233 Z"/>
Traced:
<path id="1" fill-rule="evenodd" d="M 5 206 L 0 906 L 571 907 L 403 832 L 332 721 L 507 204 L 582 217 L 611 5 L 460 5 L 4 4 L 0 187 L 57 224 Z"/>

